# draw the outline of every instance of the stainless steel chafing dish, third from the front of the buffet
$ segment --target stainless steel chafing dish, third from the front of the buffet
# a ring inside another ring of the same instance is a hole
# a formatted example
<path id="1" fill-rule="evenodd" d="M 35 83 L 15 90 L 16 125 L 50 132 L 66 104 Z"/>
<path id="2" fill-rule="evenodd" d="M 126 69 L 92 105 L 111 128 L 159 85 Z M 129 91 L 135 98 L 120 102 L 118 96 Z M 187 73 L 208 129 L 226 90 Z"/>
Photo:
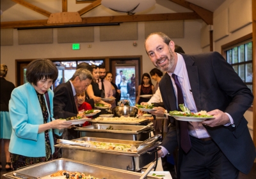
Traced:
<path id="1" fill-rule="evenodd" d="M 113 130 L 107 130 L 109 127 Z M 154 130 L 150 124 L 143 125 L 113 125 L 113 124 L 94 124 L 86 127 L 79 127 L 81 137 L 101 137 L 109 139 L 122 139 L 131 141 L 145 141 L 151 137 L 150 132 Z"/>

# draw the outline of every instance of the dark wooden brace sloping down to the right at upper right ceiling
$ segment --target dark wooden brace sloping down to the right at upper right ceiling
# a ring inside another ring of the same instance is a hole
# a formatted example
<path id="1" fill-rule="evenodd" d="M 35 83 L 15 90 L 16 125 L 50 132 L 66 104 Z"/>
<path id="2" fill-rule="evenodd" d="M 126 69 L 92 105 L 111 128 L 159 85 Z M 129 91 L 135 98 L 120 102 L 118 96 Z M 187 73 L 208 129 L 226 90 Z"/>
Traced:
<path id="1" fill-rule="evenodd" d="M 198 15 L 200 15 L 201 19 L 203 19 L 207 25 L 213 24 L 213 12 L 209 10 L 205 10 L 200 6 L 196 6 L 196 4 L 189 3 L 188 1 L 184 1 L 184 0 L 169 0 L 169 1 L 179 4 L 184 8 L 188 8 L 189 10 L 193 10 L 193 12 L 196 12 Z"/>

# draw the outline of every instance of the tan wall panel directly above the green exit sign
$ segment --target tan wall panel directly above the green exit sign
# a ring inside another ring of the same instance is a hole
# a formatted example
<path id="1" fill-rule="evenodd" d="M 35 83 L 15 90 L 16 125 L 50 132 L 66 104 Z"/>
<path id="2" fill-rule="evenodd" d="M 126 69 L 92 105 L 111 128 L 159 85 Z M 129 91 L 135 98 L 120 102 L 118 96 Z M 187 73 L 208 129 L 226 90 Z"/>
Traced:
<path id="1" fill-rule="evenodd" d="M 58 43 L 94 42 L 94 27 L 58 29 Z"/>

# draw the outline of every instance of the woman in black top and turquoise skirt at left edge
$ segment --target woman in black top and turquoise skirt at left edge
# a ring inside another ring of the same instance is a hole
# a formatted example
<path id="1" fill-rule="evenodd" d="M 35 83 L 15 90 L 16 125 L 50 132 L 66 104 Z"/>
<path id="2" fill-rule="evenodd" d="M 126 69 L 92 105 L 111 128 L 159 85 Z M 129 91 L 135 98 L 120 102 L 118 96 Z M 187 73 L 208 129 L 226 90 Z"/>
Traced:
<path id="1" fill-rule="evenodd" d="M 1 123 L 0 123 L 0 142 L 4 141 L 4 153 L 6 157 L 6 165 L 5 169 L 9 170 L 11 168 L 11 158 L 10 153 L 8 151 L 10 138 L 12 134 L 12 124 L 10 121 L 10 114 L 9 114 L 9 100 L 11 98 L 12 90 L 15 88 L 14 84 L 10 81 L 4 79 L 6 77 L 8 68 L 6 65 L 1 64 L 1 74 L 0 74 L 0 91 L 1 91 L 1 98 L 0 98 L 0 114 L 1 114 Z M 1 155 L 1 148 L 0 148 L 0 155 Z M 0 162 L 0 169 L 2 168 Z"/>

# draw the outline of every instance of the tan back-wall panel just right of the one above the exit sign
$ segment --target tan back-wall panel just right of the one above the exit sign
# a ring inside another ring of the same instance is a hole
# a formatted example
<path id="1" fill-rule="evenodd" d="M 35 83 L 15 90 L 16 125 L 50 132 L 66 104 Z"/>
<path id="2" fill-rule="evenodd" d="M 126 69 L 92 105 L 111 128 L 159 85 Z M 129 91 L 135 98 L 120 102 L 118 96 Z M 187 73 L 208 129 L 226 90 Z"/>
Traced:
<path id="1" fill-rule="evenodd" d="M 100 26 L 100 41 L 138 40 L 138 23 L 121 23 L 120 26 Z"/>

